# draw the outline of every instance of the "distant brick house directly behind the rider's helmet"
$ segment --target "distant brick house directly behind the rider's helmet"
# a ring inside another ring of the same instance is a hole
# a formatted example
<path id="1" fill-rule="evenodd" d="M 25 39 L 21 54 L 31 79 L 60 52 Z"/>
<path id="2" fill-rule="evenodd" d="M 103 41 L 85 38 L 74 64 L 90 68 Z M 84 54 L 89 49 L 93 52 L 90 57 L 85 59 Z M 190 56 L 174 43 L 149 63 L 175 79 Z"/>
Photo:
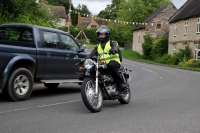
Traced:
<path id="1" fill-rule="evenodd" d="M 80 28 L 99 28 L 102 25 L 108 25 L 108 22 L 103 19 L 95 19 L 95 18 L 88 18 L 88 17 L 81 17 L 80 15 L 78 16 L 78 24 L 77 27 Z"/>

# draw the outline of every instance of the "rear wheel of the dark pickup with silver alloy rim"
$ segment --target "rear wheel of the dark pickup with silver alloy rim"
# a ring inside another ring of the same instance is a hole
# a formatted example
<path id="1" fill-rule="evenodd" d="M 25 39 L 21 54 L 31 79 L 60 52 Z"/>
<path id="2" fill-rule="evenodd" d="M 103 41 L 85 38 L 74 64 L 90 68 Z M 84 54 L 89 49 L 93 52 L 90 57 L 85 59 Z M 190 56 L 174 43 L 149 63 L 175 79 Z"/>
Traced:
<path id="1" fill-rule="evenodd" d="M 30 97 L 32 90 L 31 72 L 26 68 L 17 68 L 12 71 L 3 92 L 13 101 L 23 101 Z"/>

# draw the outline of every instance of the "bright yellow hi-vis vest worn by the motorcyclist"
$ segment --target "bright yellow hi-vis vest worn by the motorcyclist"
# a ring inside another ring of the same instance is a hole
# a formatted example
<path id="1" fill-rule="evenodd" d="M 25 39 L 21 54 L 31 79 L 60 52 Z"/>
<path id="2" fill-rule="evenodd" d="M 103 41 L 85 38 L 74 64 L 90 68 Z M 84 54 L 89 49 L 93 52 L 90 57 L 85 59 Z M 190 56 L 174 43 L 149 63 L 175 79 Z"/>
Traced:
<path id="1" fill-rule="evenodd" d="M 97 48 L 98 54 L 101 54 L 103 52 L 108 52 L 111 49 L 110 41 L 108 41 L 106 43 L 104 50 L 102 49 L 101 44 L 98 44 L 97 46 L 98 46 L 98 48 Z M 108 64 L 111 60 L 114 60 L 114 61 L 118 62 L 119 64 L 121 64 L 118 53 L 104 54 L 101 56 L 100 60 L 105 60 L 106 64 Z"/>

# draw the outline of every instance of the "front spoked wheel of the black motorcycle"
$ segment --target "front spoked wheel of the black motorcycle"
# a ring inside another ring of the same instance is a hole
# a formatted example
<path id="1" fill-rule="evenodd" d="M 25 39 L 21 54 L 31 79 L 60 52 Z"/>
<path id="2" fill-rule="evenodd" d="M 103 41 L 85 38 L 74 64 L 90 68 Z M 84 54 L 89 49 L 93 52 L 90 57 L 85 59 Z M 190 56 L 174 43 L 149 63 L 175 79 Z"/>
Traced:
<path id="1" fill-rule="evenodd" d="M 92 78 L 85 78 L 81 85 L 81 96 L 88 110 L 91 112 L 99 112 L 103 106 L 102 90 L 98 88 L 95 93 L 95 81 Z"/>

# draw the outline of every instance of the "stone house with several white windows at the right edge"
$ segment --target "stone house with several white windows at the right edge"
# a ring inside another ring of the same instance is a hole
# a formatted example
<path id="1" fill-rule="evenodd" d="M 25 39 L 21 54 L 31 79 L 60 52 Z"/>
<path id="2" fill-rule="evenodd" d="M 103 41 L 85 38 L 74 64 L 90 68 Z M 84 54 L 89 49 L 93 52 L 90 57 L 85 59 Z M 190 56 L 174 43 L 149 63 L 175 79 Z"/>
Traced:
<path id="1" fill-rule="evenodd" d="M 200 1 L 188 0 L 169 20 L 169 48 L 173 55 L 188 45 L 196 58 L 200 46 Z"/>

